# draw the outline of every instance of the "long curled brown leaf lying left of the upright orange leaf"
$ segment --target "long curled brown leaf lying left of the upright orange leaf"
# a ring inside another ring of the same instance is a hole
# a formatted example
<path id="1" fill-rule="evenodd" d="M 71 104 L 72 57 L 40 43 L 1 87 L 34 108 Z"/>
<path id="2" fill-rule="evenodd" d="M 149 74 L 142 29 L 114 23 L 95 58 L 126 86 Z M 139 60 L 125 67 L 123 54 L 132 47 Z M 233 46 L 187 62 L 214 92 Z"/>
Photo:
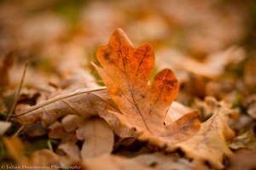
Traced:
<path id="1" fill-rule="evenodd" d="M 97 112 L 114 109 L 105 88 L 81 88 L 60 94 L 32 107 L 17 107 L 17 121 L 22 124 L 41 121 L 47 127 L 61 116 L 94 116 Z M 95 105 L 95 102 L 97 105 Z"/>

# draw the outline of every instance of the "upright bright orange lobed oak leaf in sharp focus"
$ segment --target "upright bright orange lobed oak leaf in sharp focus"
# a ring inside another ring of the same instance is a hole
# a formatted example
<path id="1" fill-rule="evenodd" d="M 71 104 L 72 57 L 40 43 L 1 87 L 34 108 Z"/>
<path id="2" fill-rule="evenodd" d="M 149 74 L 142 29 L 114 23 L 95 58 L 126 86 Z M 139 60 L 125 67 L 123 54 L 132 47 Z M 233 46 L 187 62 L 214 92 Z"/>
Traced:
<path id="1" fill-rule="evenodd" d="M 131 126 L 160 137 L 186 133 L 190 127 L 195 133 L 200 129 L 198 112 L 165 125 L 166 113 L 177 97 L 178 82 L 170 69 L 160 71 L 154 82 L 149 82 L 154 70 L 154 52 L 148 43 L 133 48 L 125 32 L 118 29 L 108 45 L 97 49 L 97 59 L 102 68 L 93 64 L 96 71 Z"/>

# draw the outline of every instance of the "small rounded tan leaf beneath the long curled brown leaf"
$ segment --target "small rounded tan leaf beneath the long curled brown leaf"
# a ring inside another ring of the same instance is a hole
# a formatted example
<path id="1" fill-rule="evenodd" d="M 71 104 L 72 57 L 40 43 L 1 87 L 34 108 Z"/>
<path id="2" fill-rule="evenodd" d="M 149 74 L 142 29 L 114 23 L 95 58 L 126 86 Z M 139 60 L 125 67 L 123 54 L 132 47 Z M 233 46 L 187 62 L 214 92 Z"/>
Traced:
<path id="1" fill-rule="evenodd" d="M 90 119 L 84 122 L 84 144 L 81 150 L 82 158 L 110 154 L 113 150 L 113 131 L 102 119 Z"/>

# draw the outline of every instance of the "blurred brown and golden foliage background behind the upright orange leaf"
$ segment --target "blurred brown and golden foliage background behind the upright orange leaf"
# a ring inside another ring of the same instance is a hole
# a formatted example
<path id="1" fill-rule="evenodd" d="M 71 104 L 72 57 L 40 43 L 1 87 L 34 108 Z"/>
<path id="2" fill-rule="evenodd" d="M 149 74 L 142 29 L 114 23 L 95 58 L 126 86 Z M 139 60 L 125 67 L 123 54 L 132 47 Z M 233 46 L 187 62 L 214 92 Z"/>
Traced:
<path id="1" fill-rule="evenodd" d="M 169 67 L 182 92 L 227 99 L 227 92 L 255 91 L 255 11 L 256 3 L 250 0 L 2 0 L 0 56 L 15 51 L 20 68 L 10 73 L 13 87 L 25 60 L 40 77 L 37 84 L 58 82 L 82 66 L 103 85 L 90 61 L 96 62 L 96 48 L 120 27 L 135 46 L 152 44 L 154 75 Z M 222 92 L 216 80 L 224 94 L 216 94 Z M 228 99 L 235 100 L 237 93 Z"/>

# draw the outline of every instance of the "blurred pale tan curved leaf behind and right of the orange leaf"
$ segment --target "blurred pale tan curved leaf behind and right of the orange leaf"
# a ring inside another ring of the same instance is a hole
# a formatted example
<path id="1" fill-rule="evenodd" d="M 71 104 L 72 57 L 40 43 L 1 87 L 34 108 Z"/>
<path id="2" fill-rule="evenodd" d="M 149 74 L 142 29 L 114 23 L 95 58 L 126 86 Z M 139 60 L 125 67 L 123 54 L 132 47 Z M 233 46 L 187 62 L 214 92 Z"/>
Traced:
<path id="1" fill-rule="evenodd" d="M 243 48 L 231 46 L 223 51 L 209 54 L 203 62 L 199 62 L 196 59 L 186 56 L 186 54 L 170 48 L 161 49 L 158 52 L 158 56 L 157 64 L 160 68 L 172 68 L 174 71 L 182 69 L 195 75 L 215 79 L 224 73 L 226 65 L 236 64 L 244 59 L 245 51 Z"/>

